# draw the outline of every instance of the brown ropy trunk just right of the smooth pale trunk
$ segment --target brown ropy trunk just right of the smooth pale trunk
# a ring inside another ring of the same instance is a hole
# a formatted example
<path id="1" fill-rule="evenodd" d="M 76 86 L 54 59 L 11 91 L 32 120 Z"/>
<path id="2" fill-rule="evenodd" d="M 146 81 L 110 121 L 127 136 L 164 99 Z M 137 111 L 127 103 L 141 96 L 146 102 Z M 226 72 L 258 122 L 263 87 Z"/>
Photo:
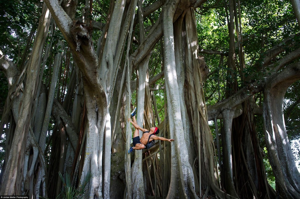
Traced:
<path id="1" fill-rule="evenodd" d="M 200 153 L 198 152 L 198 159 L 201 159 L 201 162 L 199 163 L 201 165 L 201 171 L 199 172 L 200 174 L 198 174 L 201 177 L 199 183 L 200 187 L 206 189 L 206 194 L 211 191 L 221 198 L 224 197 L 224 195 L 228 198 L 234 198 L 222 192 L 218 187 L 216 174 L 217 168 L 214 161 L 215 148 L 211 131 L 208 126 L 208 116 L 202 88 L 202 77 L 206 77 L 208 68 L 203 57 L 198 57 L 197 55 L 198 38 L 196 34 L 196 19 L 193 13 L 193 9 L 188 10 L 186 13 L 185 60 L 187 63 L 187 92 L 189 94 L 189 99 L 187 100 L 187 104 L 189 104 L 189 106 L 187 107 L 190 107 L 190 118 L 193 124 L 193 132 L 196 138 L 198 151 L 200 150 Z M 201 155 L 200 157 L 199 154 Z"/>

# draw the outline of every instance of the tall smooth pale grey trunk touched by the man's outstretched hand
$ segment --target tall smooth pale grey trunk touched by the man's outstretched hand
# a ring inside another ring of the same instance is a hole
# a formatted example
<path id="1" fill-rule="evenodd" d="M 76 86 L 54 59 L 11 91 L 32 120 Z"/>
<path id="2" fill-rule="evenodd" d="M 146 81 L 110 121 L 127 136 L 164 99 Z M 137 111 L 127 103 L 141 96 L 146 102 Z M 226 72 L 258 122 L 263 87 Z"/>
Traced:
<path id="1" fill-rule="evenodd" d="M 171 143 L 171 183 L 167 198 L 196 198 L 194 177 L 189 159 L 187 156 L 187 146 L 184 142 L 184 131 L 182 125 L 182 114 L 180 110 L 180 94 L 176 73 L 176 60 L 174 49 L 174 30 L 173 16 L 175 8 L 179 1 L 166 3 L 163 10 L 164 22 L 164 66 L 165 66 L 165 84 L 168 103 L 168 117 L 173 118 L 169 121 L 170 137 L 175 139 Z M 176 178 L 179 178 L 177 184 Z M 178 189 L 178 195 L 174 189 Z"/>

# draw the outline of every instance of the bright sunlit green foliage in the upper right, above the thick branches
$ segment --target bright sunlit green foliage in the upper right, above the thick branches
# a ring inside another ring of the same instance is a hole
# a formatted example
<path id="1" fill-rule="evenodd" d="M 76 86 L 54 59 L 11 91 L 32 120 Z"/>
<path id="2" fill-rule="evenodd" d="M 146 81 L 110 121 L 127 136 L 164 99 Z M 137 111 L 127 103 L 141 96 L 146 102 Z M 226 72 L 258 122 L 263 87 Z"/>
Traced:
<path id="1" fill-rule="evenodd" d="M 224 3 L 219 1 L 206 2 L 200 10 L 198 8 L 196 15 L 197 32 L 199 39 L 199 49 L 214 49 L 221 52 L 228 52 L 229 34 L 227 27 L 226 12 Z M 266 7 L 268 9 L 266 9 Z M 283 38 L 298 32 L 298 25 L 293 15 L 290 1 L 241 1 L 241 22 L 243 30 L 245 66 L 243 70 L 245 77 L 253 75 L 253 81 L 265 77 L 265 73 L 258 71 L 255 63 L 260 63 L 263 58 L 261 50 L 269 49 L 278 44 Z M 262 35 L 265 36 L 264 48 L 261 48 Z M 235 39 L 237 40 L 237 38 Z M 294 48 L 280 54 L 283 57 L 288 52 L 299 48 Z M 238 60 L 238 52 L 236 56 Z M 205 82 L 205 95 L 210 97 L 207 104 L 215 104 L 218 101 L 218 90 L 220 90 L 221 99 L 225 98 L 227 64 L 226 57 L 220 64 L 220 55 L 205 54 L 205 62 L 210 68 L 209 79 Z M 220 65 L 219 65 L 220 64 Z M 237 75 L 238 85 L 243 86 L 240 74 Z M 218 86 L 217 80 L 220 81 Z"/>

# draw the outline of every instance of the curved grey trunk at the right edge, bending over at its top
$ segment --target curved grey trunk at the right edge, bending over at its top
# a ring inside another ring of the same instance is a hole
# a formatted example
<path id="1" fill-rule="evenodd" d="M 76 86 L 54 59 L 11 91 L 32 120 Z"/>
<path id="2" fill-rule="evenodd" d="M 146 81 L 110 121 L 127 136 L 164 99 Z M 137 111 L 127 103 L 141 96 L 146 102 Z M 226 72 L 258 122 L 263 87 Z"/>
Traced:
<path id="1" fill-rule="evenodd" d="M 300 174 L 296 168 L 287 137 L 283 99 L 288 87 L 300 79 L 300 63 L 297 62 L 268 81 L 263 105 L 265 142 L 276 180 L 277 195 L 283 198 L 300 197 Z"/>

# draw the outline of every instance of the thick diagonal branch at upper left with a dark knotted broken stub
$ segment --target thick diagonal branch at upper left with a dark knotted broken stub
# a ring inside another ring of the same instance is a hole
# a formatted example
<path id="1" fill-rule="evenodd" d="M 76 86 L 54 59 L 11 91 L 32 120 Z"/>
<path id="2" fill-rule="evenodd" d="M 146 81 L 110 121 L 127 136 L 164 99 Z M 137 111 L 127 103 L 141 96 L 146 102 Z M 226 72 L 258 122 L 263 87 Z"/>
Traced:
<path id="1" fill-rule="evenodd" d="M 91 29 L 79 21 L 72 22 L 58 1 L 45 0 L 45 3 L 71 48 L 73 58 L 82 72 L 86 91 L 95 96 L 99 104 L 107 104 L 106 95 L 98 80 L 98 57 L 92 45 Z"/>

